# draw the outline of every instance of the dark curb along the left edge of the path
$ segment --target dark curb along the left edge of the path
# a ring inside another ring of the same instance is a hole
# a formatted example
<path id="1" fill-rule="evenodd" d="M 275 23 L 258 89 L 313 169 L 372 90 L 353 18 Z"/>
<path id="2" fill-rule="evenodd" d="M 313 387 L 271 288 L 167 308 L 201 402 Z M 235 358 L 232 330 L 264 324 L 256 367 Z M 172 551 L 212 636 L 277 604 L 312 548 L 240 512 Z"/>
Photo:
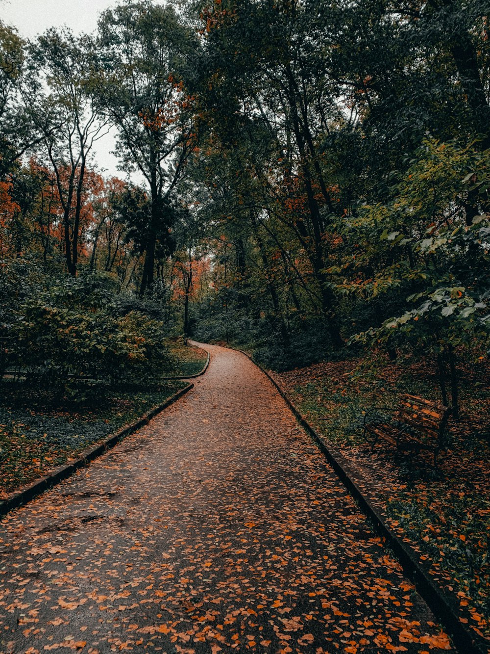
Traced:
<path id="1" fill-rule="evenodd" d="M 114 447 L 114 445 L 117 445 L 117 443 L 125 438 L 125 436 L 133 434 L 133 432 L 136 432 L 141 427 L 144 427 L 145 424 L 148 424 L 148 422 L 150 422 L 150 420 L 154 418 L 155 415 L 179 400 L 193 387 L 193 384 L 189 384 L 185 388 L 181 388 L 181 390 L 178 390 L 168 400 L 165 400 L 165 402 L 162 404 L 153 407 L 151 411 L 148 411 L 148 413 L 146 413 L 138 421 L 122 427 L 115 434 L 108 436 L 102 443 L 97 443 L 97 445 L 91 445 L 91 447 L 88 447 L 88 449 L 84 450 L 75 461 L 63 466 L 59 466 L 59 468 L 55 468 L 55 470 L 52 470 L 52 472 L 50 472 L 45 477 L 41 477 L 41 479 L 37 479 L 36 481 L 33 481 L 33 483 L 22 487 L 22 489 L 12 494 L 8 500 L 5 500 L 5 502 L 0 502 L 0 518 L 7 515 L 7 513 L 12 511 L 12 509 L 16 509 L 22 504 L 25 504 L 25 502 L 29 502 L 29 500 L 32 500 L 37 495 L 40 495 L 42 492 L 44 492 L 44 490 L 52 488 L 63 479 L 73 475 L 73 473 L 76 472 L 78 468 L 82 468 L 82 466 L 85 466 L 91 460 L 97 458 L 97 456 L 103 455 L 108 449 Z"/>

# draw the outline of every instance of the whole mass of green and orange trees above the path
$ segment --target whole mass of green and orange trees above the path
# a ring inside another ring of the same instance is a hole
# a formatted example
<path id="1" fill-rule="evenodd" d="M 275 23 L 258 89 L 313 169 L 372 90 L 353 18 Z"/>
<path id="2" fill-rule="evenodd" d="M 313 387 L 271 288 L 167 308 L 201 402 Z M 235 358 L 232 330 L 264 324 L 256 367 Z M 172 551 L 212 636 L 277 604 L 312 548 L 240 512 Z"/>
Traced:
<path id="1" fill-rule="evenodd" d="M 92 35 L 1 24 L 3 269 L 103 269 L 276 367 L 487 356 L 489 10 L 123 0 Z M 97 171 L 108 129 L 139 186 Z"/>

